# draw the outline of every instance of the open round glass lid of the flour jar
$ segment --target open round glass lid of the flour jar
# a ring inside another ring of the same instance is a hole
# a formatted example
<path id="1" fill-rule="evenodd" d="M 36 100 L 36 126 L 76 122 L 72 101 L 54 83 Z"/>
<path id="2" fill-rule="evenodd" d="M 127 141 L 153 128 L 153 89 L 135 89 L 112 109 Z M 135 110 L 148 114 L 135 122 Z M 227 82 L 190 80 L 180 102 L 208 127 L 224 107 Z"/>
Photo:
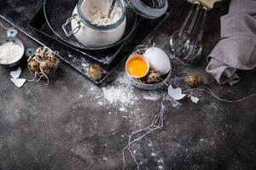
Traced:
<path id="1" fill-rule="evenodd" d="M 167 0 L 125 0 L 137 14 L 148 19 L 156 19 L 166 13 Z"/>

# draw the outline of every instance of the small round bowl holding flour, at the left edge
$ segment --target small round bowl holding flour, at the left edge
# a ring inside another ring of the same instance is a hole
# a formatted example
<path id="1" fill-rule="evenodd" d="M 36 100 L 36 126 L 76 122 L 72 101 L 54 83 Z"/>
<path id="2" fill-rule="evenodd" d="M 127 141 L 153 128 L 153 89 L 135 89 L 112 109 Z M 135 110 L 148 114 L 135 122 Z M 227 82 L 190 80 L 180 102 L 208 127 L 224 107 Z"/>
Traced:
<path id="1" fill-rule="evenodd" d="M 20 48 L 22 48 L 22 54 L 19 56 L 19 59 L 16 60 L 14 63 L 9 63 L 9 64 L 1 64 L 4 68 L 12 68 L 12 67 L 15 67 L 17 65 L 20 64 L 20 61 L 22 59 L 22 56 L 24 54 L 24 45 L 22 42 L 20 42 L 19 39 L 15 38 L 15 37 L 1 37 L 0 38 L 0 45 L 3 45 L 3 43 L 6 43 L 6 42 L 14 42 L 15 45 L 19 46 Z"/>

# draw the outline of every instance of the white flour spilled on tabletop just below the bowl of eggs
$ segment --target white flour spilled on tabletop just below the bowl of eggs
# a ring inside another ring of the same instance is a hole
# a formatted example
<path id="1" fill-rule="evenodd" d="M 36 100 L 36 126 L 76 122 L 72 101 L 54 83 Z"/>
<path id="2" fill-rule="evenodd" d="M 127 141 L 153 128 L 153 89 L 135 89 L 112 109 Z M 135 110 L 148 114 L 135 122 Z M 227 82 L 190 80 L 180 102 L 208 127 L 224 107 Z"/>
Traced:
<path id="1" fill-rule="evenodd" d="M 90 92 L 92 92 L 95 98 L 98 99 L 98 105 L 116 105 L 119 106 L 120 112 L 128 112 L 128 107 L 137 105 L 139 99 L 152 101 L 162 99 L 162 94 L 159 90 L 144 92 L 141 96 L 137 96 L 134 90 L 135 88 L 132 86 L 125 72 L 120 73 L 119 77 L 111 86 L 98 89 L 96 89 L 96 87 L 90 88 Z M 181 105 L 178 101 L 171 99 L 168 95 L 166 95 L 166 99 L 171 101 L 172 107 Z M 137 108 L 137 111 L 139 111 L 139 108 Z"/>

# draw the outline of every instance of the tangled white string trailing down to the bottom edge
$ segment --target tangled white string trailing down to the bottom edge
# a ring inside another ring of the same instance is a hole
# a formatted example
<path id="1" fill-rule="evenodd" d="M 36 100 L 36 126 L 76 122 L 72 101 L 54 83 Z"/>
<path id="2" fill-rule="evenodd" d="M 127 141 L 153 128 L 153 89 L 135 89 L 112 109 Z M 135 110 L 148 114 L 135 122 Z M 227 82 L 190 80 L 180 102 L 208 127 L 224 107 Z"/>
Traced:
<path id="1" fill-rule="evenodd" d="M 137 164 L 137 169 L 139 169 L 139 164 L 137 162 L 136 157 L 134 156 L 134 154 L 131 151 L 131 144 L 137 142 L 140 139 L 143 139 L 148 133 L 152 133 L 157 129 L 161 129 L 164 126 L 164 112 L 165 112 L 165 106 L 164 106 L 164 101 L 166 99 L 166 94 L 163 95 L 163 99 L 161 102 L 161 109 L 160 112 L 154 116 L 153 121 L 151 122 L 151 124 L 148 127 L 136 130 L 131 132 L 131 135 L 129 136 L 128 139 L 128 144 L 125 146 L 125 148 L 123 149 L 123 170 L 125 170 L 125 150 L 128 150 L 133 158 L 133 160 L 135 161 L 135 163 Z M 148 132 L 142 133 L 143 131 L 148 130 Z M 138 133 L 142 133 L 140 136 L 138 136 L 136 139 L 132 139 L 132 137 Z"/>

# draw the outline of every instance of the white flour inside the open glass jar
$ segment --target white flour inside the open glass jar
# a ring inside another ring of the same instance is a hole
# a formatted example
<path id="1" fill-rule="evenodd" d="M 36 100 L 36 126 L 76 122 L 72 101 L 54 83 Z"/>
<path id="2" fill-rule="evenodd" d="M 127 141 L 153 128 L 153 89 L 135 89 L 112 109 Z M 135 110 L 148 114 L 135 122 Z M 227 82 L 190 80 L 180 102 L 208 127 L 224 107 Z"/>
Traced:
<path id="1" fill-rule="evenodd" d="M 82 5 L 82 11 L 91 23 L 98 26 L 108 26 L 116 23 L 122 16 L 122 8 L 115 5 L 110 18 L 108 18 L 109 7 L 110 2 L 108 0 L 87 0 Z"/>

